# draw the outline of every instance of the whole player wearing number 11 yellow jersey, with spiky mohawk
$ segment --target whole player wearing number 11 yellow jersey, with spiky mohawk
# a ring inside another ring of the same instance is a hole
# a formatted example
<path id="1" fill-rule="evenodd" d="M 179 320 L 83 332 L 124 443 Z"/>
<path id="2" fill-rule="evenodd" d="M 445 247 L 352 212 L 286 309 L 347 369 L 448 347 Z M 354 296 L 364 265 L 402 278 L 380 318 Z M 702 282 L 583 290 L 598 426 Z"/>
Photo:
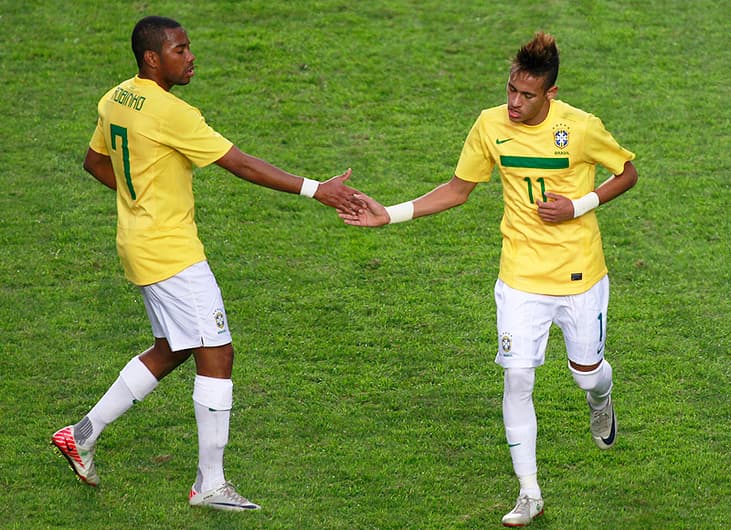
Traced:
<path id="1" fill-rule="evenodd" d="M 497 167 L 504 213 L 500 273 L 495 285 L 498 353 L 504 369 L 503 419 L 518 502 L 505 526 L 525 526 L 543 513 L 537 480 L 535 369 L 549 328 L 564 336 L 569 370 L 586 392 L 590 430 L 601 449 L 615 442 L 612 368 L 604 359 L 609 281 L 594 209 L 637 182 L 634 154 L 602 122 L 556 99 L 555 39 L 537 33 L 516 54 L 507 103 L 483 111 L 467 135 L 454 177 L 413 201 L 340 211 L 355 226 L 381 226 L 463 204 Z M 595 167 L 613 176 L 595 186 Z"/>

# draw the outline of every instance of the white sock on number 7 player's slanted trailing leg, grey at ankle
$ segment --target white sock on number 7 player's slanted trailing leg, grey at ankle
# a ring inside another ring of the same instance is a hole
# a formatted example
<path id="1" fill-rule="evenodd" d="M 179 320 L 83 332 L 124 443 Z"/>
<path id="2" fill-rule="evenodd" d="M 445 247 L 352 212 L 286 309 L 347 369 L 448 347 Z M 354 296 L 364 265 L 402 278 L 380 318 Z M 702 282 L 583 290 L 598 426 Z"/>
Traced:
<path id="1" fill-rule="evenodd" d="M 93 446 L 107 425 L 142 401 L 157 383 L 139 356 L 134 357 L 122 368 L 119 377 L 96 405 L 74 426 L 76 442 L 84 448 Z"/>

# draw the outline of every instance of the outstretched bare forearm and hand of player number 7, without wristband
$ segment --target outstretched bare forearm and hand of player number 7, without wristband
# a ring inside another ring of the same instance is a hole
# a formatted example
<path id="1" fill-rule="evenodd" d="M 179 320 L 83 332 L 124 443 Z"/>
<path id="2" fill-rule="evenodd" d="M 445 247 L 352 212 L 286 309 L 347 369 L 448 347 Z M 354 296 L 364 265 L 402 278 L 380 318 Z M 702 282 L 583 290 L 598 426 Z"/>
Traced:
<path id="1" fill-rule="evenodd" d="M 299 193 L 305 182 L 303 177 L 287 173 L 265 160 L 248 155 L 236 146 L 231 147 L 216 161 L 216 164 L 239 178 L 287 193 Z M 350 178 L 351 173 L 351 170 L 348 169 L 342 175 L 321 182 L 315 191 L 314 198 L 327 206 L 348 212 L 353 211 L 361 203 L 354 202 L 353 199 L 357 190 L 345 185 L 345 181 Z"/>

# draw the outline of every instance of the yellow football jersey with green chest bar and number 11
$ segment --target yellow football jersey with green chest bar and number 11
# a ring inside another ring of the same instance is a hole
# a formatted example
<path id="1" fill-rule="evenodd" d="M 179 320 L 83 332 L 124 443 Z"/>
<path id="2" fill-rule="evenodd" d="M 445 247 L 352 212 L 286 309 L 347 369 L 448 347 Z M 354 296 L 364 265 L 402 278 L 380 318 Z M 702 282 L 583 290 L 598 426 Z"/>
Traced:
<path id="1" fill-rule="evenodd" d="M 553 192 L 577 199 L 595 189 L 596 164 L 613 174 L 635 155 L 622 148 L 592 114 L 553 100 L 538 125 L 517 124 L 507 105 L 484 110 L 465 140 L 455 175 L 490 180 L 497 166 L 504 212 L 500 279 L 514 289 L 571 295 L 606 273 L 594 211 L 563 223 L 544 223 L 536 200 Z"/>

